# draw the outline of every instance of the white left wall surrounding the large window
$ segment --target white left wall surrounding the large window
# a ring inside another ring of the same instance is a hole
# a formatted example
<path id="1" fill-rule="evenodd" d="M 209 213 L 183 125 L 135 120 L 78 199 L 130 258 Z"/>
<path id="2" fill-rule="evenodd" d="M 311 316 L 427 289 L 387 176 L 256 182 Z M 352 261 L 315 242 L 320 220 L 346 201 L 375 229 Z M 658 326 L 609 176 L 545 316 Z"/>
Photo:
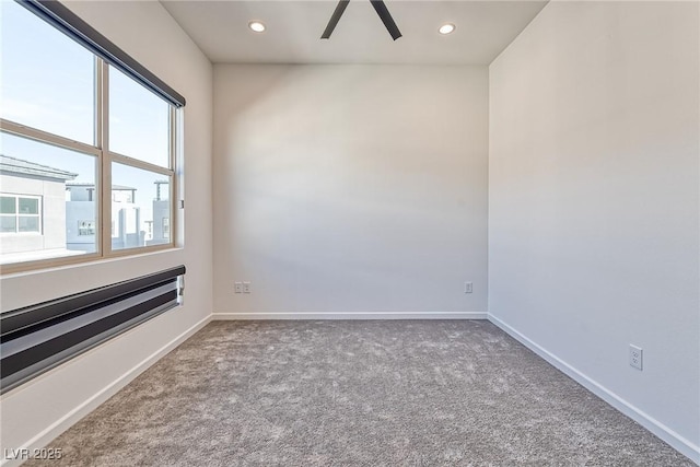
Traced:
<path id="1" fill-rule="evenodd" d="M 3 395 L 0 401 L 3 448 L 34 447 L 50 441 L 70 421 L 84 415 L 91 404 L 118 387 L 119 383 L 110 385 L 119 377 L 149 362 L 168 342 L 207 320 L 212 310 L 211 63 L 158 2 L 67 4 L 187 98 L 186 244 L 177 250 L 3 277 L 2 311 L 179 264 L 187 267 L 185 305 Z"/>

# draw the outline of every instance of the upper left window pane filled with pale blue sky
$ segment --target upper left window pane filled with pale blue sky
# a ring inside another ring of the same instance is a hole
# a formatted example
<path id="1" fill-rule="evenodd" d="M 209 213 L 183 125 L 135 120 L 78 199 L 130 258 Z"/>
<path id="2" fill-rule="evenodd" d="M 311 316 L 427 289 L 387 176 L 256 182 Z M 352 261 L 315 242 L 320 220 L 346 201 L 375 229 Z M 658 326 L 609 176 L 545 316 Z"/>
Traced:
<path id="1" fill-rule="evenodd" d="M 93 143 L 94 56 L 13 1 L 0 20 L 0 116 Z"/>

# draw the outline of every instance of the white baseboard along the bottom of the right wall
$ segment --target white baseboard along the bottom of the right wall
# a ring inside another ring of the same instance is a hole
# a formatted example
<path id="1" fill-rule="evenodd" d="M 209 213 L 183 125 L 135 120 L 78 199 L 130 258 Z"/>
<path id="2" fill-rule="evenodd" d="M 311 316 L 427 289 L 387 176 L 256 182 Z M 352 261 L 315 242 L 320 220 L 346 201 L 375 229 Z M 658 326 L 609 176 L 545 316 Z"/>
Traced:
<path id="1" fill-rule="evenodd" d="M 700 465 L 700 446 L 693 444 L 689 440 L 686 440 L 685 437 L 673 431 L 670 428 L 651 417 L 649 413 L 640 410 L 602 384 L 581 373 L 579 370 L 564 362 L 544 347 L 539 346 L 537 342 L 530 340 L 528 337 L 524 336 L 518 330 L 514 329 L 497 316 L 493 316 L 489 313 L 488 319 L 495 326 L 501 328 L 503 331 L 509 334 L 511 337 L 513 337 L 515 340 L 520 341 L 523 346 L 527 347 L 529 350 L 545 359 L 552 366 L 564 373 L 567 376 L 571 377 L 573 381 L 608 402 L 610 406 L 625 413 L 627 417 L 631 418 L 632 420 L 644 427 L 646 430 L 654 433 L 656 436 L 668 443 L 672 447 L 688 457 L 690 460 Z"/>

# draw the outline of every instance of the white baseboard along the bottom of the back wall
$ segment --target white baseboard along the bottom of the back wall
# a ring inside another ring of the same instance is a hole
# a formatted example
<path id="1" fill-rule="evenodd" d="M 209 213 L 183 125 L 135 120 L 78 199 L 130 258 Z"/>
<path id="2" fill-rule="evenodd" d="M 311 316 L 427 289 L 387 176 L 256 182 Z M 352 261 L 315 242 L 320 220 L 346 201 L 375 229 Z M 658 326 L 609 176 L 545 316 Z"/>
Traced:
<path id="1" fill-rule="evenodd" d="M 406 312 L 346 312 L 346 313 L 214 313 L 213 320 L 236 319 L 487 319 L 486 313 L 406 313 Z"/>

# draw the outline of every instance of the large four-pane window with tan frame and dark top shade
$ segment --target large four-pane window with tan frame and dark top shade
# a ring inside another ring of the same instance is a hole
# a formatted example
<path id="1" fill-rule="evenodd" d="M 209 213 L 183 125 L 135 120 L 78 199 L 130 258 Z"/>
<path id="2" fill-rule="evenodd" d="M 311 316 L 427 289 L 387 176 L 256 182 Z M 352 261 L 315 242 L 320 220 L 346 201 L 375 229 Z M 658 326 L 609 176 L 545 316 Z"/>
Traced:
<path id="1" fill-rule="evenodd" d="M 173 246 L 185 100 L 58 2 L 0 21 L 2 271 Z"/>

